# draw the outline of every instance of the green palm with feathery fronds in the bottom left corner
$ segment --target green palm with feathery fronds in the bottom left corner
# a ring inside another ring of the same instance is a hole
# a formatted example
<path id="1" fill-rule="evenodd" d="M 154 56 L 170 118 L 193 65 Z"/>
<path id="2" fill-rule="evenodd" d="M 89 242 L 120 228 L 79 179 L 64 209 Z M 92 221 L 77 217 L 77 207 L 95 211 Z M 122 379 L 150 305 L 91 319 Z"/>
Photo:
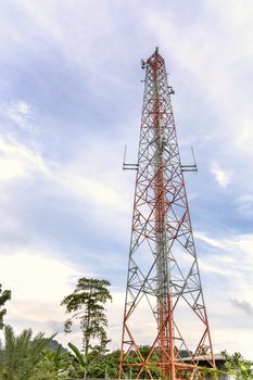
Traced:
<path id="1" fill-rule="evenodd" d="M 51 338 L 26 329 L 15 335 L 11 326 L 4 327 L 4 344 L 0 349 L 0 380 L 28 380 L 33 377 L 41 354 Z"/>

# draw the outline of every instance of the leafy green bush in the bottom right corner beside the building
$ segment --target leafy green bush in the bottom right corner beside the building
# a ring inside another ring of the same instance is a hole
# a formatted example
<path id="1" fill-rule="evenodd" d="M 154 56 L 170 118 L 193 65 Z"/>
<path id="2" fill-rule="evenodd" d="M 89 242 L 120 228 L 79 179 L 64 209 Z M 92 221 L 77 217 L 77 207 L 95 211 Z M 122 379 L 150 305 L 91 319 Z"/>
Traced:
<path id="1" fill-rule="evenodd" d="M 239 352 L 229 355 L 225 351 L 222 354 L 226 358 L 225 368 L 228 373 L 235 375 L 238 380 L 253 379 L 253 362 L 244 359 Z"/>

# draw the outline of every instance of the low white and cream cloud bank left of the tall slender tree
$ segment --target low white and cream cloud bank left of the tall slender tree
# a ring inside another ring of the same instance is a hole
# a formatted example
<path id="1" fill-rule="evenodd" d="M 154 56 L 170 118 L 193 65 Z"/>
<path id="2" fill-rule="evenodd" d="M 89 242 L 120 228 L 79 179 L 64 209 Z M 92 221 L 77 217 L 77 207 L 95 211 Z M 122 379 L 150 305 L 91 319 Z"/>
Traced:
<path id="1" fill-rule="evenodd" d="M 17 332 L 28 327 L 35 332 L 61 332 L 65 319 L 64 307 L 60 306 L 62 299 L 74 290 L 84 273 L 92 276 L 41 243 L 0 253 L 0 262 L 3 289 L 12 291 L 5 322 Z M 60 333 L 58 339 L 66 344 L 71 338 Z M 74 334 L 74 339 L 78 341 L 79 335 Z"/>

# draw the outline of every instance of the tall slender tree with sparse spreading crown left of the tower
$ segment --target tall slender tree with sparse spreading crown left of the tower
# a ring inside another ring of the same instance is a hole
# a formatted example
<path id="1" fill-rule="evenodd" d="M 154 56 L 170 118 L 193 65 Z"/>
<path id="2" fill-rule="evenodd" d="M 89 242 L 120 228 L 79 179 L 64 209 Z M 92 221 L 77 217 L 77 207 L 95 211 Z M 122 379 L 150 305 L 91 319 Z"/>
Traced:
<path id="1" fill-rule="evenodd" d="M 80 324 L 85 358 L 91 350 L 98 354 L 106 351 L 109 340 L 104 304 L 112 301 L 107 289 L 110 286 L 106 280 L 83 277 L 78 280 L 74 292 L 65 296 L 61 303 L 66 307 L 66 313 L 72 314 L 64 324 L 64 330 L 71 332 L 75 319 Z"/>

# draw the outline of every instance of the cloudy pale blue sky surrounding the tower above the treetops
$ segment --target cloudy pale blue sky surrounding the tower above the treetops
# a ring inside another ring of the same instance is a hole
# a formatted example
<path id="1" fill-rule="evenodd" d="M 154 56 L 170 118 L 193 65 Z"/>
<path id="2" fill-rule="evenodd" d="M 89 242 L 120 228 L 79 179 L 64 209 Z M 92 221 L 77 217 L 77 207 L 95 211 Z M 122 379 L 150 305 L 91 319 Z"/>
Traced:
<path id="1" fill-rule="evenodd" d="M 165 59 L 215 352 L 253 359 L 253 2 L 0 0 L 5 322 L 63 333 L 79 277 L 111 281 L 121 343 L 143 71 Z"/>

